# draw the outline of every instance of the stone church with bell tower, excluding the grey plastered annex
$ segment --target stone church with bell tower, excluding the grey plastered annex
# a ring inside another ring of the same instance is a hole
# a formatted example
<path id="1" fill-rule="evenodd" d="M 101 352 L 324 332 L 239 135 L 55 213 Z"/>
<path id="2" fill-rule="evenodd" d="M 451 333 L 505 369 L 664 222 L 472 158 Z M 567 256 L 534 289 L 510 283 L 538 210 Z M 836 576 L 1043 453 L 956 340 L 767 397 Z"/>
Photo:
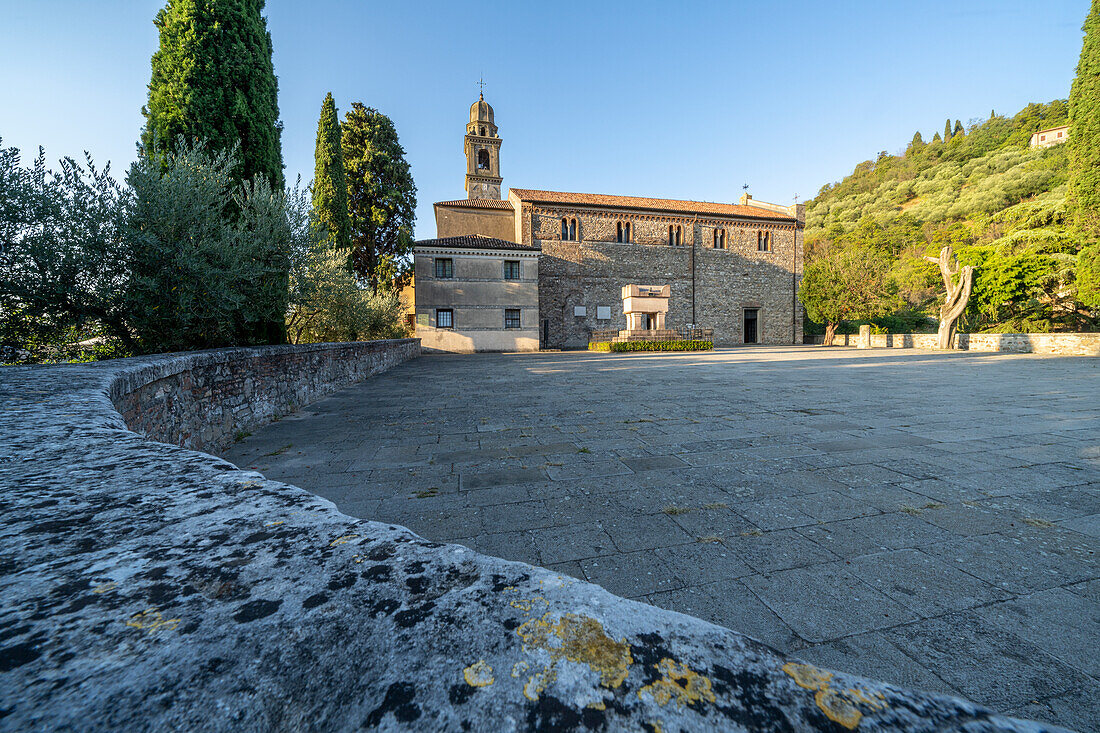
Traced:
<path id="1" fill-rule="evenodd" d="M 670 329 L 712 328 L 716 346 L 802 342 L 804 207 L 747 195 L 734 205 L 517 188 L 498 200 L 499 147 L 493 108 L 479 99 L 466 124 L 468 199 L 436 204 L 437 237 L 541 250 L 541 348 L 580 349 L 593 331 L 626 329 L 620 292 L 638 283 L 671 286 Z"/>

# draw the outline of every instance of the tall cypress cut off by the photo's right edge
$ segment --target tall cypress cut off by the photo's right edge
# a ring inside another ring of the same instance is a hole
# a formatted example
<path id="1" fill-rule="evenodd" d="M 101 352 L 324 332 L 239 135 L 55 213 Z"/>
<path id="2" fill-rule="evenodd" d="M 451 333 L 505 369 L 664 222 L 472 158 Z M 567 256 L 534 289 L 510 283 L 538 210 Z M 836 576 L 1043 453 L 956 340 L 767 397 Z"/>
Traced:
<path id="1" fill-rule="evenodd" d="M 1100 233 L 1100 0 L 1085 19 L 1085 43 L 1069 91 L 1069 193 L 1077 226 Z"/>

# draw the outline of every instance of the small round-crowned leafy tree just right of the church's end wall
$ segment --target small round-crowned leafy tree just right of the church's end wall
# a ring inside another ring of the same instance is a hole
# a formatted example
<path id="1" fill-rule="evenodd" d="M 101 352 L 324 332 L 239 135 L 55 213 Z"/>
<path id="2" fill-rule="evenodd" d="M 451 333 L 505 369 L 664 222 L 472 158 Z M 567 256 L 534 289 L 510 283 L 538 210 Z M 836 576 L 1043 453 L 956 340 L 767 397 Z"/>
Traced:
<path id="1" fill-rule="evenodd" d="M 833 344 L 837 326 L 886 314 L 893 303 L 887 278 L 890 260 L 872 248 L 834 247 L 809 260 L 799 298 L 806 316 L 825 324 L 825 346 Z"/>

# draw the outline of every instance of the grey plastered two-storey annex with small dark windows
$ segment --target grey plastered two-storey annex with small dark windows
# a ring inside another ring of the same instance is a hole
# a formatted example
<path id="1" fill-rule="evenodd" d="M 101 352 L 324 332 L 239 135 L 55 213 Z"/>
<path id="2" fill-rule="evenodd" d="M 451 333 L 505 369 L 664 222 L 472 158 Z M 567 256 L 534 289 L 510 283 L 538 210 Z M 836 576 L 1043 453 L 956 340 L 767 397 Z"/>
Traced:
<path id="1" fill-rule="evenodd" d="M 416 335 L 426 349 L 538 351 L 537 248 L 449 237 L 417 242 L 413 252 Z M 441 309 L 449 324 L 439 322 Z"/>

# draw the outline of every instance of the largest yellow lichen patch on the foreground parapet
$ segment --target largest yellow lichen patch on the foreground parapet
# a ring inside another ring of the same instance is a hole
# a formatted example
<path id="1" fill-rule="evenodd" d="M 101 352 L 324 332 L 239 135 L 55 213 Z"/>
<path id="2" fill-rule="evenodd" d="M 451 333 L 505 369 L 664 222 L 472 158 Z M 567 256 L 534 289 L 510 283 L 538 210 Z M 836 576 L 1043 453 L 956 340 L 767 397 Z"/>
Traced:
<path id="1" fill-rule="evenodd" d="M 516 630 L 526 649 L 544 649 L 556 663 L 565 658 L 587 665 L 600 675 L 600 683 L 609 689 L 626 680 L 634 657 L 625 638 L 616 642 L 591 616 L 566 613 L 551 622 L 549 615 L 531 619 Z"/>

